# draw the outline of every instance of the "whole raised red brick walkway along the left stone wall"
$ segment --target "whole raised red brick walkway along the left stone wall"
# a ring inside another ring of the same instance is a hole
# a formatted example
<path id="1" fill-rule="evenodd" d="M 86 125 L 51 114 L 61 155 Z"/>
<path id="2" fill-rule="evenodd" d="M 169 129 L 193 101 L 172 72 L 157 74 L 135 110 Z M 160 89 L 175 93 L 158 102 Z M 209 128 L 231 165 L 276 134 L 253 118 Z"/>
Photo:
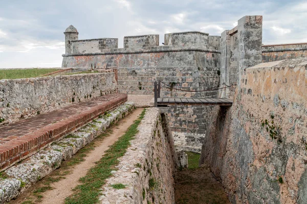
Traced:
<path id="1" fill-rule="evenodd" d="M 113 93 L 0 126 L 0 169 L 32 155 L 125 101 L 126 94 Z"/>

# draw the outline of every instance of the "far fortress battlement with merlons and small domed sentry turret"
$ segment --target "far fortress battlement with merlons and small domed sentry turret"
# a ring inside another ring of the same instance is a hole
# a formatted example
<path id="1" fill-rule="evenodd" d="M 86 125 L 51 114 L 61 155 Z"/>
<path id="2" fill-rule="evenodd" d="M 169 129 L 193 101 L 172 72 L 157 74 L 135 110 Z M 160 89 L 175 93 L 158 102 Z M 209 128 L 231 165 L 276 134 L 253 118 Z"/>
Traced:
<path id="1" fill-rule="evenodd" d="M 159 45 L 159 35 L 125 36 L 123 48 L 118 48 L 118 38 L 78 39 L 78 32 L 72 25 L 65 32 L 65 56 L 108 55 L 131 53 L 156 53 L 178 51 L 202 51 L 219 53 L 220 36 L 189 31 L 167 33 L 164 45 Z"/>

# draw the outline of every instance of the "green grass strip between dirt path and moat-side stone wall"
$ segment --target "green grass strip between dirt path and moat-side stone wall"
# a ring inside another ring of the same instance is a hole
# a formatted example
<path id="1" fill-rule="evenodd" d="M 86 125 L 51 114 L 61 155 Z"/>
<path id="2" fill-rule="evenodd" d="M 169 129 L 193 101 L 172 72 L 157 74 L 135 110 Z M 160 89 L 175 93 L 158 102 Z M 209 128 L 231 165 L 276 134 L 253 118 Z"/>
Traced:
<path id="1" fill-rule="evenodd" d="M 101 186 L 105 184 L 105 180 L 112 176 L 111 171 L 117 170 L 115 166 L 119 164 L 118 158 L 124 156 L 130 140 L 138 133 L 138 125 L 145 115 L 145 109 L 139 118 L 130 125 L 125 134 L 119 138 L 112 146 L 106 150 L 105 155 L 96 162 L 87 174 L 80 179 L 81 185 L 74 189 L 74 193 L 65 199 L 67 204 L 92 204 L 98 202 Z"/>

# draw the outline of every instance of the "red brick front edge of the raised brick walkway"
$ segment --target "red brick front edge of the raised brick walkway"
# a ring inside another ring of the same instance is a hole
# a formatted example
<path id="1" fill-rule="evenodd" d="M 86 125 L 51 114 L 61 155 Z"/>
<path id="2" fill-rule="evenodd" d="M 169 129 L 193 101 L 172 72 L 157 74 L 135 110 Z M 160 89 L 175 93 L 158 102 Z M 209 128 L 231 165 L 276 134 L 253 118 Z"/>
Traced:
<path id="1" fill-rule="evenodd" d="M 62 120 L 56 123 L 0 144 L 0 168 L 4 170 L 16 162 L 33 155 L 51 142 L 57 141 L 65 135 L 78 130 L 81 126 L 97 118 L 105 111 L 113 110 L 127 101 L 126 94 L 117 93 L 109 94 L 108 96 L 111 96 L 108 101 L 103 100 L 100 104 L 90 109 L 72 114 L 70 117 L 62 118 Z M 41 123 L 41 120 L 37 120 L 37 122 Z"/>

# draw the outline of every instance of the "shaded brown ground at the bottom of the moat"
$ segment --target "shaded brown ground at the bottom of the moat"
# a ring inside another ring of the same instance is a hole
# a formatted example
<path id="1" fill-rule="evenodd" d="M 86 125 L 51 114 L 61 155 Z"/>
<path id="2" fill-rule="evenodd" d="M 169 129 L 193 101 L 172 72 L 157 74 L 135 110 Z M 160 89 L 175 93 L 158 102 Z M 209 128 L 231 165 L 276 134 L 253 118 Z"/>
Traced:
<path id="1" fill-rule="evenodd" d="M 175 199 L 176 204 L 230 204 L 221 183 L 205 167 L 175 173 Z"/>

